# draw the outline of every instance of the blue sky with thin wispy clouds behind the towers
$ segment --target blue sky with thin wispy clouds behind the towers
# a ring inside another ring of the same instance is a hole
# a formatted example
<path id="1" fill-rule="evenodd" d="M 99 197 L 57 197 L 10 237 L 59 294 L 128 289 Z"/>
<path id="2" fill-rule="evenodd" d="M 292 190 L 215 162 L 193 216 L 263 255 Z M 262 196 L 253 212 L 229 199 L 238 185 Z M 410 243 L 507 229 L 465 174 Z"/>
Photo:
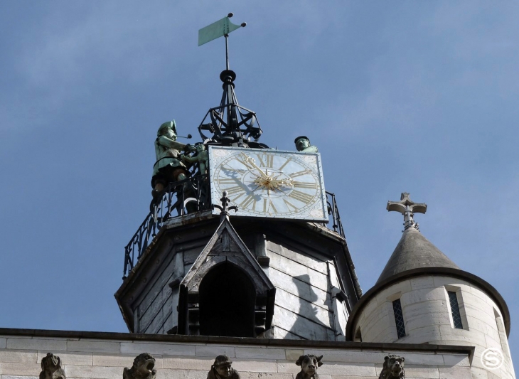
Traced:
<path id="1" fill-rule="evenodd" d="M 0 326 L 126 331 L 113 298 L 147 214 L 162 122 L 220 102 L 222 18 L 260 142 L 319 146 L 364 291 L 400 239 L 388 200 L 490 282 L 519 361 L 519 4 L 512 1 L 4 1 Z"/>

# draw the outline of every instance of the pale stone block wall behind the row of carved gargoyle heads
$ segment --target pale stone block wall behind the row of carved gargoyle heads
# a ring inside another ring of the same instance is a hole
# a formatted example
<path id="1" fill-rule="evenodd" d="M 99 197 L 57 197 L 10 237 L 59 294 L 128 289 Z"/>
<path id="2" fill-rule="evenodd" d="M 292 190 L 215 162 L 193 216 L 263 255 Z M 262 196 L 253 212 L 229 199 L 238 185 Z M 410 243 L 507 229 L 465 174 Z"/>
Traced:
<path id="1" fill-rule="evenodd" d="M 232 359 L 242 379 L 294 379 L 300 370 L 295 361 L 306 353 L 323 355 L 320 379 L 377 379 L 390 353 L 405 358 L 407 379 L 471 379 L 472 351 L 464 346 L 0 329 L 0 379 L 37 378 L 48 352 L 61 358 L 68 379 L 120 379 L 144 352 L 156 358 L 157 379 L 205 379 L 220 354 Z"/>

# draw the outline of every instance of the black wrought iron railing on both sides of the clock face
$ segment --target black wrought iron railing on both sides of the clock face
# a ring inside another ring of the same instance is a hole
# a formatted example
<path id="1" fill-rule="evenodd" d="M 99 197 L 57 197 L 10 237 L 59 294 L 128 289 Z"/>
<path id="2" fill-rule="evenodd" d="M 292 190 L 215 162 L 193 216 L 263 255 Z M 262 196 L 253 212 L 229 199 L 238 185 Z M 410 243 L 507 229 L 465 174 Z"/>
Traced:
<path id="1" fill-rule="evenodd" d="M 327 227 L 344 236 L 343 225 L 337 207 L 335 194 L 326 192 L 328 215 L 330 223 Z M 156 233 L 159 233 L 164 221 L 197 212 L 198 210 L 210 209 L 210 190 L 208 175 L 198 175 L 183 181 L 169 183 L 166 188 L 151 201 L 150 212 L 137 229 L 128 245 L 124 247 L 124 272 L 122 279 L 137 264 L 141 255 L 146 251 Z"/>

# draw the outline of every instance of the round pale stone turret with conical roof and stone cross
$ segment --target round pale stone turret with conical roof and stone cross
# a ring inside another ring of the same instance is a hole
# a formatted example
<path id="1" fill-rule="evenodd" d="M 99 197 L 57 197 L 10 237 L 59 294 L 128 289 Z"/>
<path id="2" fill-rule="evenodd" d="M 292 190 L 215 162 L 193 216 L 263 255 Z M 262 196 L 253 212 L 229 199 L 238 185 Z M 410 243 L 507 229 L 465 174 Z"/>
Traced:
<path id="1" fill-rule="evenodd" d="M 346 338 L 474 346 L 473 378 L 515 378 L 503 297 L 419 232 L 408 193 L 402 193 L 400 209 L 395 203 L 387 209 L 405 215 L 405 230 L 375 286 L 353 309 Z"/>

